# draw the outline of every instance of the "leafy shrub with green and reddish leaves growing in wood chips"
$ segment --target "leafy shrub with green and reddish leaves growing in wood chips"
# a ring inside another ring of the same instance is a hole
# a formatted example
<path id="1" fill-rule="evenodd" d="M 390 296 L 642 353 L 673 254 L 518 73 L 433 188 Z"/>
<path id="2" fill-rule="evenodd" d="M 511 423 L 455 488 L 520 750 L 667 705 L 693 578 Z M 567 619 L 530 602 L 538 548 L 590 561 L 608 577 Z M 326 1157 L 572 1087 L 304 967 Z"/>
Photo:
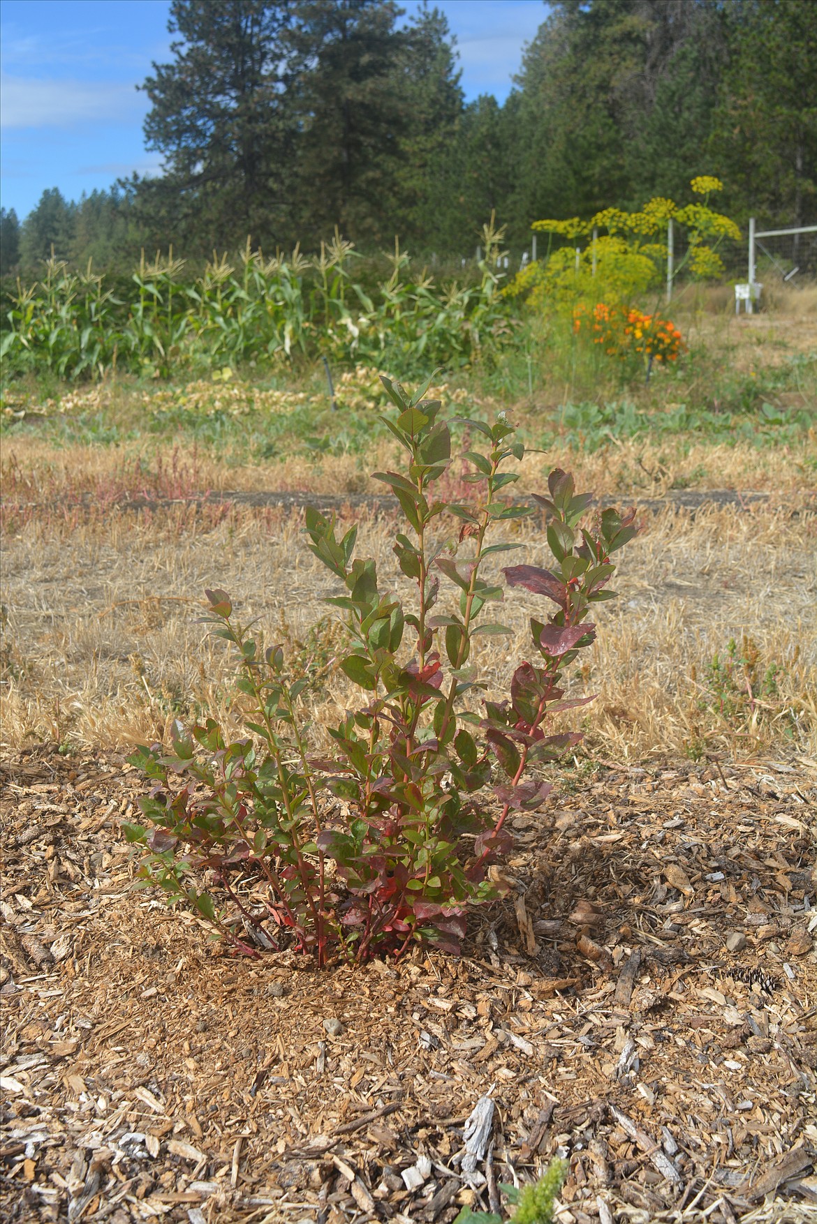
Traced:
<path id="1" fill-rule="evenodd" d="M 356 554 L 355 526 L 338 537 L 334 515 L 306 510 L 309 547 L 341 584 L 327 600 L 345 630 L 337 666 L 360 690 L 361 704 L 328 728 L 332 758 L 310 743 L 301 701 L 310 665 L 299 659 L 293 670 L 280 645 L 265 647 L 220 590 L 206 592 L 209 621 L 235 647 L 247 734 L 229 741 L 209 717 L 191 732 L 174 723 L 169 753 L 142 747 L 131 758 L 154 783 L 142 800 L 148 824 L 126 826 L 146 849 L 142 881 L 252 951 L 201 886 L 211 871 L 262 946 L 280 941 L 273 923 L 320 965 L 332 949 L 360 961 L 399 955 L 414 940 L 458 951 L 468 907 L 497 895 L 488 867 L 512 847 L 508 814 L 541 805 L 551 789 L 543 769 L 582 738 L 546 734 L 546 722 L 592 700 L 568 698 L 565 674 L 594 640 L 592 606 L 612 596 L 610 556 L 637 530 L 634 510 L 622 519 L 608 509 L 579 526 L 590 494 L 551 472 L 549 496 L 534 499 L 549 519 L 554 569 L 521 564 L 503 574 L 556 611 L 530 621 L 538 662 L 519 663 L 510 699 L 485 700 L 480 715 L 480 639 L 510 632 L 484 616 L 505 596 L 486 563 L 519 547 L 492 541 L 494 529 L 533 513 L 502 497 L 518 477 L 506 468 L 524 448 L 502 415 L 492 426 L 456 419 L 483 443 L 462 457 L 473 497 L 435 497 L 452 461 L 453 422 L 440 419 L 440 400 L 424 398 L 427 384 L 415 395 L 387 378 L 383 386 L 397 409 L 383 424 L 405 464 L 375 475 L 402 512 L 393 551 L 413 599 L 381 588 L 375 562 Z M 447 611 L 443 583 L 456 600 Z M 256 880 L 260 903 L 233 887 L 236 870 Z"/>

